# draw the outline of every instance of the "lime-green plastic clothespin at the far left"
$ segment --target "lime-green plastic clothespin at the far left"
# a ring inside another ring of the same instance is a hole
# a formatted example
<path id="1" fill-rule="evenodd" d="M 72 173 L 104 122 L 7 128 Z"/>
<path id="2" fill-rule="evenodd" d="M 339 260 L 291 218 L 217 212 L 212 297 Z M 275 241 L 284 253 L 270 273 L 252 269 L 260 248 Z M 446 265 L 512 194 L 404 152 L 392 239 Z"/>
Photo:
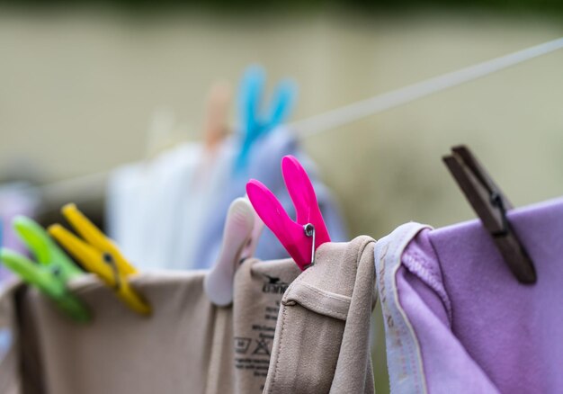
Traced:
<path id="1" fill-rule="evenodd" d="M 68 317 L 80 323 L 90 321 L 90 313 L 84 303 L 67 289 L 68 281 L 84 273 L 35 221 L 19 216 L 13 219 L 13 228 L 39 264 L 24 255 L 2 248 L 0 259 L 4 265 L 18 274 L 24 282 L 47 295 Z"/>

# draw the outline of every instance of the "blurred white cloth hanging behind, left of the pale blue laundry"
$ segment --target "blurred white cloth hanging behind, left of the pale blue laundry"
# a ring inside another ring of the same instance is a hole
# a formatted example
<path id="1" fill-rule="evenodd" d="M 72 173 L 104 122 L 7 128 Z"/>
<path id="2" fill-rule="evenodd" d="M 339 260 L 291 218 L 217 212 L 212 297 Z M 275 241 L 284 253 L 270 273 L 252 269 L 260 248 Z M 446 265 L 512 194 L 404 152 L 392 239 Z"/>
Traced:
<path id="1" fill-rule="evenodd" d="M 185 242 L 182 212 L 184 205 L 192 204 L 190 186 L 200 157 L 201 145 L 185 143 L 150 163 L 122 166 L 112 173 L 107 233 L 139 268 L 181 263 L 174 246 Z"/>

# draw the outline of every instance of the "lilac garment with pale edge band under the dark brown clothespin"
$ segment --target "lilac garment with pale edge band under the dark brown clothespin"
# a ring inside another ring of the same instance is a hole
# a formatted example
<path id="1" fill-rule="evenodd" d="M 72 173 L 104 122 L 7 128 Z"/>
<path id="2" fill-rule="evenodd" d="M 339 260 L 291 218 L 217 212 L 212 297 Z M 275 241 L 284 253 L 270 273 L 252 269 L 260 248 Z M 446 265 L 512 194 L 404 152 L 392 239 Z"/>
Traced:
<path id="1" fill-rule="evenodd" d="M 534 285 L 515 279 L 478 220 L 409 223 L 378 242 L 392 392 L 563 390 L 563 199 L 509 219 Z"/>

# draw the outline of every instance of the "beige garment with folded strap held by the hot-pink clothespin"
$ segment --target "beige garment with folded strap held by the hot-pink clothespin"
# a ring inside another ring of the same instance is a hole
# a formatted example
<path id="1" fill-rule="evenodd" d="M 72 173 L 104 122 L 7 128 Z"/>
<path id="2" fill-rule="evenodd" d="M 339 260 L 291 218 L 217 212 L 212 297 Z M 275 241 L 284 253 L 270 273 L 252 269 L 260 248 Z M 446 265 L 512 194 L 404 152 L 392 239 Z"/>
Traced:
<path id="1" fill-rule="evenodd" d="M 264 394 L 373 393 L 374 240 L 320 246 L 281 300 Z"/>

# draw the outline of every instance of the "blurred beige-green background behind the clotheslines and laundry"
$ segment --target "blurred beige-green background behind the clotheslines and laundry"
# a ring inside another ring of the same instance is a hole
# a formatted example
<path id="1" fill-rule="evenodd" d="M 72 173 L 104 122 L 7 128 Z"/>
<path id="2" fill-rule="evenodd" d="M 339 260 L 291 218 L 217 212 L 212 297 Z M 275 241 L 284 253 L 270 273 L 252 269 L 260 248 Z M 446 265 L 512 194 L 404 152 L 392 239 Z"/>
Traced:
<path id="1" fill-rule="evenodd" d="M 250 63 L 298 82 L 297 121 L 563 36 L 558 1 L 23 4 L 0 6 L 0 178 L 45 184 L 146 157 L 156 108 L 201 139 L 210 85 Z M 561 195 L 562 103 L 560 50 L 302 143 L 352 235 L 377 238 L 474 217 L 441 161 L 459 143 L 514 205 Z"/>

